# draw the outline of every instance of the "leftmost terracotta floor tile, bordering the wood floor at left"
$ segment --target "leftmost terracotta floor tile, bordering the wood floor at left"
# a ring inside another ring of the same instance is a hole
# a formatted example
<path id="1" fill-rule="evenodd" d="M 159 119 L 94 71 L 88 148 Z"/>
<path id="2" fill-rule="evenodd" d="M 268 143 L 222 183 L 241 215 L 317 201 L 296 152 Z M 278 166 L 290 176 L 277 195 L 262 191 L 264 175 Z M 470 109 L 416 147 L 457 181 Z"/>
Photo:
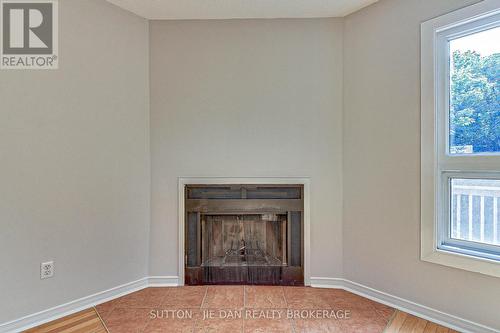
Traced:
<path id="1" fill-rule="evenodd" d="M 141 333 L 149 321 L 149 310 L 116 308 L 101 318 L 110 333 Z"/>

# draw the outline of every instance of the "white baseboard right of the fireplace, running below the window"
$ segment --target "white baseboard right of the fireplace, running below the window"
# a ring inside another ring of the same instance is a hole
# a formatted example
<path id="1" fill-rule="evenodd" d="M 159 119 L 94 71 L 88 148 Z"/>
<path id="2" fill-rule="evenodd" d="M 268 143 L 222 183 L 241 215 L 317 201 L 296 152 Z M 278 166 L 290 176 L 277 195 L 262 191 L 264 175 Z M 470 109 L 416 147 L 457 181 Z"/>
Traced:
<path id="1" fill-rule="evenodd" d="M 311 287 L 344 289 L 459 332 L 500 333 L 499 330 L 494 328 L 462 319 L 346 279 L 312 277 Z"/>

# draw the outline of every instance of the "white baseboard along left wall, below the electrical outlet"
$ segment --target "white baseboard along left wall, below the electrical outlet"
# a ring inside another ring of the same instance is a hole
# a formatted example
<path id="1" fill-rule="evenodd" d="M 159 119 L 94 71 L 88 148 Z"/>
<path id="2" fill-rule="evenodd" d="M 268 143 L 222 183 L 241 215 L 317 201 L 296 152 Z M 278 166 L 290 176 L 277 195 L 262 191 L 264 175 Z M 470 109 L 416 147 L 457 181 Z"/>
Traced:
<path id="1" fill-rule="evenodd" d="M 142 278 L 137 281 L 129 282 L 118 287 L 104 290 L 90 296 L 82 297 L 44 311 L 0 324 L 0 333 L 22 332 L 29 328 L 88 309 L 97 304 L 107 302 L 146 287 L 148 287 L 148 278 Z"/>

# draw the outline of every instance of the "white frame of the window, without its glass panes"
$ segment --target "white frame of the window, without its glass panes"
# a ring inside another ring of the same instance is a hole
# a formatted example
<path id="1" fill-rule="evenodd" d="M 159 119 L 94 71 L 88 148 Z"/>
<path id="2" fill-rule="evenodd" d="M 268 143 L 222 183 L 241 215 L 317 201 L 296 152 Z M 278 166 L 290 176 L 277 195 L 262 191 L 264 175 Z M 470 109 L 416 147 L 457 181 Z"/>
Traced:
<path id="1" fill-rule="evenodd" d="M 421 25 L 421 259 L 497 277 L 496 246 L 466 249 L 471 242 L 448 236 L 449 189 L 452 178 L 500 179 L 500 155 L 450 155 L 448 120 L 449 40 L 491 29 L 499 20 L 500 0 L 485 0 Z"/>

